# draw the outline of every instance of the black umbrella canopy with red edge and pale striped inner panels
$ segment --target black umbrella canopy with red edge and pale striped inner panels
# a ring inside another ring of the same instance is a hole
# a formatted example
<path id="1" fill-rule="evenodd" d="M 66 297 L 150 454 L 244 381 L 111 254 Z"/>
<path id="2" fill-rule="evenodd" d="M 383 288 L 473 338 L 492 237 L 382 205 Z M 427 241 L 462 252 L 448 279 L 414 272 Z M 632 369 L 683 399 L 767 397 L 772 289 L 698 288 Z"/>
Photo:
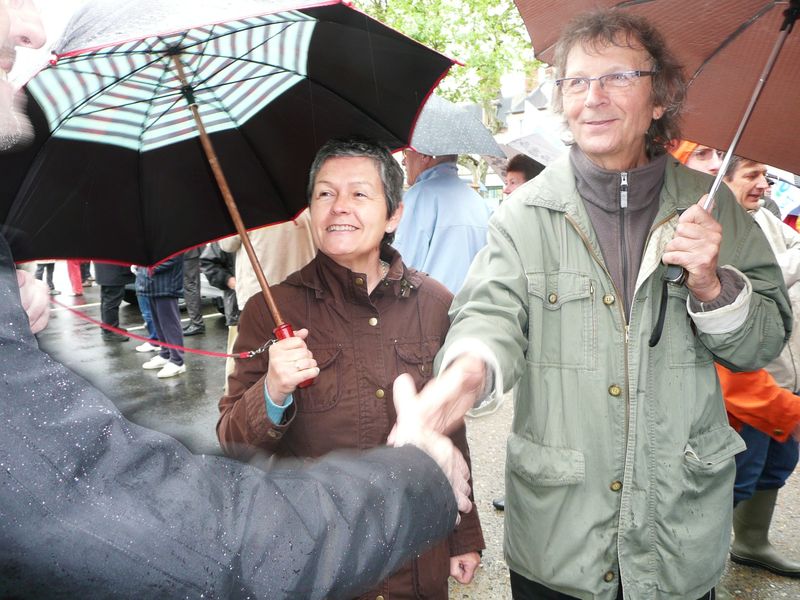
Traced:
<path id="1" fill-rule="evenodd" d="M 232 233 L 187 98 L 251 228 L 302 210 L 329 138 L 407 145 L 452 65 L 344 4 L 266 0 L 93 2 L 56 54 L 26 86 L 33 145 L 0 156 L 18 260 L 151 265 Z"/>

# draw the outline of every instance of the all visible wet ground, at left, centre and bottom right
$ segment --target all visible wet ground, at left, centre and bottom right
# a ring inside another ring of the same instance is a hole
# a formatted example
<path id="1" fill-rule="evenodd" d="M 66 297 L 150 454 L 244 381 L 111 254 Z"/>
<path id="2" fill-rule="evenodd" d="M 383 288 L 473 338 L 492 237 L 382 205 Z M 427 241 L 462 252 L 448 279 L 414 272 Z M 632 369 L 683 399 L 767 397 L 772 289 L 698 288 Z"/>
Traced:
<path id="1" fill-rule="evenodd" d="M 63 264 L 57 270 L 65 271 Z M 87 288 L 82 298 L 67 294 L 66 276 L 56 274 L 56 286 L 64 293 L 56 300 L 99 319 L 99 288 Z M 189 347 L 224 352 L 227 328 L 212 303 L 203 304 L 206 332 L 186 338 Z M 186 314 L 182 313 L 184 323 Z M 142 319 L 135 306 L 120 309 L 120 322 L 141 335 Z M 158 379 L 142 363 L 152 354 L 134 351 L 138 341 L 104 342 L 98 326 L 81 320 L 66 309 L 52 312 L 50 325 L 39 336 L 42 348 L 106 393 L 131 421 L 168 433 L 195 453 L 220 454 L 214 426 L 217 401 L 224 384 L 225 360 L 186 355 L 187 371 L 172 379 Z M 492 498 L 502 494 L 505 439 L 512 418 L 510 402 L 494 415 L 470 419 L 467 430 L 472 450 L 475 498 L 481 511 L 487 549 L 472 585 L 451 584 L 451 599 L 502 600 L 511 597 L 508 569 L 503 560 L 503 513 L 494 510 Z M 778 496 L 771 529 L 773 543 L 800 560 L 800 478 L 796 472 Z M 800 581 L 766 571 L 728 564 L 723 585 L 741 600 L 800 599 Z"/>

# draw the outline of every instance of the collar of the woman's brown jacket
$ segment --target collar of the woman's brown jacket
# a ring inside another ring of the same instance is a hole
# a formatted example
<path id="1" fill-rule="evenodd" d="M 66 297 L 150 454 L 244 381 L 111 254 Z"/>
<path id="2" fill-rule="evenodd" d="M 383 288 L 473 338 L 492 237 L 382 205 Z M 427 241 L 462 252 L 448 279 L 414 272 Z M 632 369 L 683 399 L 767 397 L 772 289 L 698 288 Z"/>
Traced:
<path id="1" fill-rule="evenodd" d="M 381 260 L 389 263 L 389 271 L 384 282 L 373 290 L 373 295 L 388 293 L 405 298 L 422 284 L 422 275 L 415 269 L 406 267 L 400 253 L 391 246 L 384 244 L 381 247 Z M 341 296 L 350 301 L 368 301 L 366 287 L 357 283 L 359 278 L 366 280 L 366 275 L 351 271 L 328 255 L 317 252 L 314 260 L 289 275 L 286 284 L 311 289 L 318 299 Z"/>

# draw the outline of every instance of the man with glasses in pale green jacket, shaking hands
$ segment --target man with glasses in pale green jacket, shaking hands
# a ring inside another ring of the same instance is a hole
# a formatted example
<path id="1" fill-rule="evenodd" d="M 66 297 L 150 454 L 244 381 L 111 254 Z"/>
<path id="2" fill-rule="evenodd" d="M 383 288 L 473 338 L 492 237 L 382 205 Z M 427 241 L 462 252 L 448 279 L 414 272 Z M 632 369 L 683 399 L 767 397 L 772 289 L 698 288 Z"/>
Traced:
<path id="1" fill-rule="evenodd" d="M 505 517 L 515 600 L 713 598 L 744 448 L 713 361 L 774 358 L 791 329 L 786 289 L 727 190 L 706 212 L 711 179 L 665 154 L 685 83 L 657 31 L 619 11 L 583 15 L 556 69 L 575 144 L 495 213 L 439 363 L 472 356 L 484 392 L 518 384 Z M 685 286 L 663 283 L 665 263 L 686 270 Z"/>

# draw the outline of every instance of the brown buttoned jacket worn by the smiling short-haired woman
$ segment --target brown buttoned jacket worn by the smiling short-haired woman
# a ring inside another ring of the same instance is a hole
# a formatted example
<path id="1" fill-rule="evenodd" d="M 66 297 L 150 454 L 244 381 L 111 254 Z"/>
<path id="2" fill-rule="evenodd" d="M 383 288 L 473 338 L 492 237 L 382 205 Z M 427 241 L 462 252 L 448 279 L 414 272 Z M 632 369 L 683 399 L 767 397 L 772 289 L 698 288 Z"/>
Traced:
<path id="1" fill-rule="evenodd" d="M 433 358 L 449 327 L 452 296 L 437 281 L 407 269 L 384 247 L 386 280 L 367 294 L 363 274 L 317 257 L 272 288 L 286 322 L 306 327 L 309 349 L 320 367 L 314 384 L 293 393 L 283 422 L 267 417 L 265 352 L 236 361 L 228 395 L 220 400 L 217 435 L 225 453 L 248 459 L 260 448 L 278 456 L 318 457 L 339 448 L 379 446 L 395 422 L 392 382 L 410 373 L 418 387 L 431 377 Z M 274 321 L 258 294 L 239 322 L 236 352 L 273 337 Z M 451 436 L 469 461 L 464 427 Z M 447 598 L 450 556 L 484 548 L 477 509 L 463 515 L 450 538 L 411 561 L 362 598 Z M 368 549 L 365 549 L 368 551 Z"/>

